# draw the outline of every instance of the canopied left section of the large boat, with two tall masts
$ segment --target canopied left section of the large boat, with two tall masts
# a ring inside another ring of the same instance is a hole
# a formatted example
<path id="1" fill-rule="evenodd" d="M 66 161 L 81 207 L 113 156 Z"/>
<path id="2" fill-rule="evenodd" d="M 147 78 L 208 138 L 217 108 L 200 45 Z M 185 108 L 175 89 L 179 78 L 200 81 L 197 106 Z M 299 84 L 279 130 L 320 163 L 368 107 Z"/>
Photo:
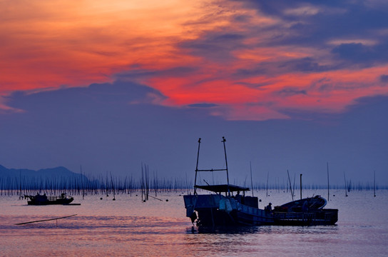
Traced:
<path id="1" fill-rule="evenodd" d="M 226 157 L 225 137 L 223 145 L 225 151 L 224 169 L 198 169 L 201 138 L 198 140 L 197 166 L 195 168 L 194 193 L 183 196 L 186 216 L 190 217 L 193 225 L 198 227 L 239 226 L 239 225 L 267 225 L 273 224 L 274 219 L 270 211 L 258 208 L 258 198 L 246 196 L 250 188 L 235 186 L 229 183 L 228 160 Z M 226 171 L 226 184 L 197 185 L 198 172 Z M 198 194 L 198 189 L 209 193 Z"/>

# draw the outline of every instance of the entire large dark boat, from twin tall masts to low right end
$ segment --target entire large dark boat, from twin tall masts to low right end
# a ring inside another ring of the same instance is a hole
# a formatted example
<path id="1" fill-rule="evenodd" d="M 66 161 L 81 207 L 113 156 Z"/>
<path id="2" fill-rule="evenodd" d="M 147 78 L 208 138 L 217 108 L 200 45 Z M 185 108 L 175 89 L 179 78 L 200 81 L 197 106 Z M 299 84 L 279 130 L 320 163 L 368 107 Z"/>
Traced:
<path id="1" fill-rule="evenodd" d="M 198 140 L 197 166 L 195 168 L 194 193 L 183 196 L 186 216 L 198 227 L 216 226 L 314 226 L 333 225 L 338 221 L 337 209 L 325 209 L 325 198 L 315 196 L 275 206 L 271 203 L 264 209 L 259 208 L 258 198 L 246 196 L 250 188 L 235 186 L 229 183 L 228 160 L 226 157 L 225 137 L 225 169 L 198 169 L 201 138 Z M 198 185 L 198 172 L 226 171 L 226 184 Z M 198 189 L 206 191 L 198 193 Z"/>

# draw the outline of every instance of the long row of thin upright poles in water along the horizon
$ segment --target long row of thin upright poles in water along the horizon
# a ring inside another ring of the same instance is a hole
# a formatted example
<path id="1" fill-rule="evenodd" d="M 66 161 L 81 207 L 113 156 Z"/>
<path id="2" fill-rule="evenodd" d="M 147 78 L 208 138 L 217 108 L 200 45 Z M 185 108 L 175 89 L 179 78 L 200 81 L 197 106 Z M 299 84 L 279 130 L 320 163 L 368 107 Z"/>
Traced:
<path id="1" fill-rule="evenodd" d="M 327 174 L 328 175 L 328 174 Z M 295 196 L 295 191 L 300 186 L 295 185 L 295 174 L 293 186 L 291 187 L 290 173 L 287 171 L 287 176 L 285 179 L 276 177 L 275 183 L 270 183 L 270 173 L 267 173 L 267 181 L 265 182 L 255 182 L 251 178 L 250 188 L 252 190 L 277 190 L 277 191 L 292 191 L 292 196 Z M 218 181 L 213 181 L 218 183 Z M 240 185 L 241 181 L 235 179 L 233 184 Z M 244 182 L 245 185 L 246 181 Z M 155 193 L 155 197 L 158 197 L 158 193 L 163 192 L 188 192 L 193 188 L 193 181 L 188 179 L 188 175 L 185 175 L 185 178 L 159 178 L 157 172 L 153 172 L 153 178 L 149 172 L 149 168 L 146 164 L 142 163 L 141 166 L 141 178 L 135 179 L 133 176 L 114 176 L 113 173 L 106 173 L 106 176 L 86 176 L 85 173 L 76 174 L 71 177 L 32 177 L 32 176 L 22 176 L 20 173 L 15 174 L 15 176 L 0 177 L 0 195 L 19 195 L 19 197 L 24 195 L 36 194 L 36 192 L 44 192 L 48 195 L 58 195 L 60 193 L 66 192 L 72 195 L 82 195 L 86 194 L 91 195 L 111 195 L 113 197 L 116 194 L 128 193 L 132 194 L 134 192 L 141 191 L 143 200 L 148 200 L 150 193 Z M 330 183 L 327 180 L 327 185 L 320 185 L 316 183 L 303 183 L 303 189 L 325 189 L 327 188 L 327 193 L 329 189 L 331 190 L 343 190 L 345 193 L 349 191 L 363 191 L 363 190 L 378 190 L 388 188 L 387 186 L 378 186 L 376 183 L 376 178 L 374 175 L 373 181 L 364 181 L 359 183 L 353 183 L 351 179 L 347 179 L 344 174 L 344 184 L 334 184 Z M 375 193 L 374 193 L 375 194 Z"/>

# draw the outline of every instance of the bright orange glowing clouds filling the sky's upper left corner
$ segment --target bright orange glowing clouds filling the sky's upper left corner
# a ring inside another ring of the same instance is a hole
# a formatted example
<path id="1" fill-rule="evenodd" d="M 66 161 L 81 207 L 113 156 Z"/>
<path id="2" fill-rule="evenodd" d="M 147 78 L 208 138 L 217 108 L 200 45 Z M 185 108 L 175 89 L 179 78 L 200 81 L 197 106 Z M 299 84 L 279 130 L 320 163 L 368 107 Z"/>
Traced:
<path id="1" fill-rule="evenodd" d="M 198 12 L 180 1 L 3 1 L 1 91 L 86 86 L 165 66 Z M 21 76 L 23 74 L 23 76 Z"/>

